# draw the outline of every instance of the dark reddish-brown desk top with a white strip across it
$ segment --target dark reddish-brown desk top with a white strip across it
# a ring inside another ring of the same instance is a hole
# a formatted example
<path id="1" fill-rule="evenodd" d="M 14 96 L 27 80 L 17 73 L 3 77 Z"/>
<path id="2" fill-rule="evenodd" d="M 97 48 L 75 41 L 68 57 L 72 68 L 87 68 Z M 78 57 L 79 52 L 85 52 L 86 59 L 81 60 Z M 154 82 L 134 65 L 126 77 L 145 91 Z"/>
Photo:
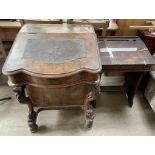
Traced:
<path id="1" fill-rule="evenodd" d="M 143 41 L 137 37 L 99 37 L 103 71 L 145 71 L 155 64 Z"/>

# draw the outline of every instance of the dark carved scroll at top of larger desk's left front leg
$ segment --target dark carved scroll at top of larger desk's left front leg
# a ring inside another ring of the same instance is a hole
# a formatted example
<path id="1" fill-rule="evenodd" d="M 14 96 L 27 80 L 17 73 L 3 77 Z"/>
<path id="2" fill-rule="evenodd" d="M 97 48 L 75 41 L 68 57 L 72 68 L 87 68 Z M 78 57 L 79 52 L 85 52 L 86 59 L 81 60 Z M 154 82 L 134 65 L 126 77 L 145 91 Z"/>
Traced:
<path id="1" fill-rule="evenodd" d="M 16 99 L 21 104 L 26 104 L 30 102 L 29 97 L 26 97 L 25 95 L 25 86 L 17 86 L 13 88 L 13 91 L 15 92 Z"/>

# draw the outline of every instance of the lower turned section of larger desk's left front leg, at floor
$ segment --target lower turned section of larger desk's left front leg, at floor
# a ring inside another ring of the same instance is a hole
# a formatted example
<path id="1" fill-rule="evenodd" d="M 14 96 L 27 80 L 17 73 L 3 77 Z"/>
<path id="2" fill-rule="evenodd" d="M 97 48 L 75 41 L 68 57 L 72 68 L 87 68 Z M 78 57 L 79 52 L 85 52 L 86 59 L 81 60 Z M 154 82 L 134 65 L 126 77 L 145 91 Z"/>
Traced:
<path id="1" fill-rule="evenodd" d="M 37 113 L 34 110 L 30 111 L 28 115 L 28 126 L 32 133 L 35 133 L 38 131 L 36 119 L 37 119 Z"/>

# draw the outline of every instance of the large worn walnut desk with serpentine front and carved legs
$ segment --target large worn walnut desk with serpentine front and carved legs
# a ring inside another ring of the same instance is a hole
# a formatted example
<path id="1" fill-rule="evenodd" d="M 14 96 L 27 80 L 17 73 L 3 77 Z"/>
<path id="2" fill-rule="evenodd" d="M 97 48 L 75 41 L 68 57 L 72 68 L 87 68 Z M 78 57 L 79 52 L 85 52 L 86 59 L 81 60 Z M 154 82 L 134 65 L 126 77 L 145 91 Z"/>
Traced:
<path id="1" fill-rule="evenodd" d="M 3 66 L 16 98 L 29 107 L 28 125 L 36 132 L 42 110 L 82 108 L 91 127 L 93 102 L 102 66 L 90 25 L 26 24 Z"/>

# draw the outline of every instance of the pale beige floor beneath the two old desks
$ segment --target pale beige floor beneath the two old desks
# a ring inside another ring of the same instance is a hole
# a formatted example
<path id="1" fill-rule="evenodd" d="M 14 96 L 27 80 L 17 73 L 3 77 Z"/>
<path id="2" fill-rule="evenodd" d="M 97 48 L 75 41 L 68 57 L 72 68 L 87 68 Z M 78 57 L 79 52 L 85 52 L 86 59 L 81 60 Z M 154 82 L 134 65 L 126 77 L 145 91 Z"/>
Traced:
<path id="1" fill-rule="evenodd" d="M 39 132 L 31 134 L 27 127 L 27 106 L 20 105 L 8 86 L 0 86 L 0 135 L 155 135 L 155 113 L 139 92 L 129 108 L 125 94 L 102 93 L 97 99 L 96 118 L 90 130 L 83 128 L 81 110 L 53 110 L 39 114 Z"/>

